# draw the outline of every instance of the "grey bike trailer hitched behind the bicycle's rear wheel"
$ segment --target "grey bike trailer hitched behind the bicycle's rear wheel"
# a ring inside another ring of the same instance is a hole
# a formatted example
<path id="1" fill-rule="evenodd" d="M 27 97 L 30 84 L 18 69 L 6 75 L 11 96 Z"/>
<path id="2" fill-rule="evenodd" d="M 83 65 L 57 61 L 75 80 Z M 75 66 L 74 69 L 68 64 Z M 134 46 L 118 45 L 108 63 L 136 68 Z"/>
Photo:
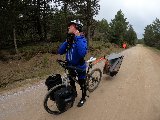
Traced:
<path id="1" fill-rule="evenodd" d="M 123 57 L 124 56 L 120 53 L 112 53 L 109 56 L 107 56 L 108 61 L 107 64 L 105 64 L 104 66 L 103 73 L 106 73 L 112 77 L 116 75 L 121 67 Z"/>

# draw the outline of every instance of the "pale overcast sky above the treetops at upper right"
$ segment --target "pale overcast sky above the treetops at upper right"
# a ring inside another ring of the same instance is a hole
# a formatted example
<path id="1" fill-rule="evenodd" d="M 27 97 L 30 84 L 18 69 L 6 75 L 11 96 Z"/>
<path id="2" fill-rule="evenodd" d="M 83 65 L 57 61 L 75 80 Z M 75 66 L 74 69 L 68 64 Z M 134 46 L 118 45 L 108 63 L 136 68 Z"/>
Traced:
<path id="1" fill-rule="evenodd" d="M 138 38 L 143 37 L 144 28 L 156 18 L 160 19 L 160 0 L 100 0 L 97 20 L 113 19 L 122 10 L 127 21 L 133 25 Z"/>

